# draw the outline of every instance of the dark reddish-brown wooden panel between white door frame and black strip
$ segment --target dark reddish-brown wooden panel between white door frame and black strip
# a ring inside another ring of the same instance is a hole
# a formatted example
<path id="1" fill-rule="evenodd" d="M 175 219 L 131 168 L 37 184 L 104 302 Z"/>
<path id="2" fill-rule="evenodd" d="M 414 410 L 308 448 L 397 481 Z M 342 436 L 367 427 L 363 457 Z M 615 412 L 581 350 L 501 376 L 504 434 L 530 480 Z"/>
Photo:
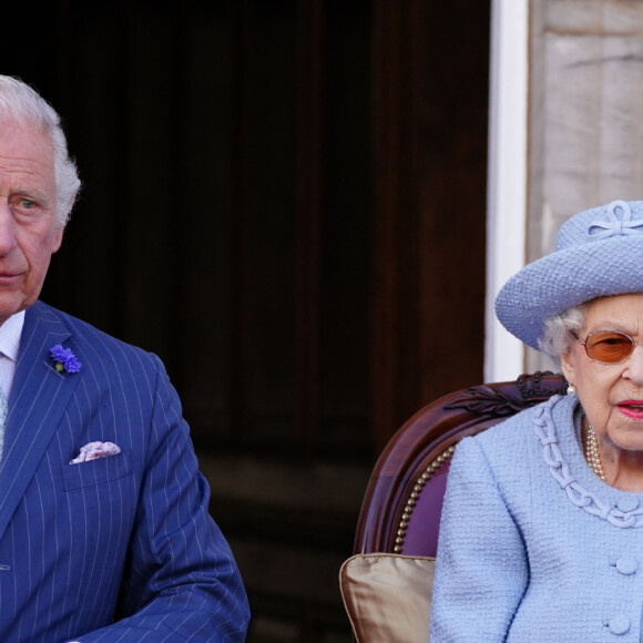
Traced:
<path id="1" fill-rule="evenodd" d="M 374 1 L 378 449 L 423 401 L 482 378 L 488 16 Z"/>

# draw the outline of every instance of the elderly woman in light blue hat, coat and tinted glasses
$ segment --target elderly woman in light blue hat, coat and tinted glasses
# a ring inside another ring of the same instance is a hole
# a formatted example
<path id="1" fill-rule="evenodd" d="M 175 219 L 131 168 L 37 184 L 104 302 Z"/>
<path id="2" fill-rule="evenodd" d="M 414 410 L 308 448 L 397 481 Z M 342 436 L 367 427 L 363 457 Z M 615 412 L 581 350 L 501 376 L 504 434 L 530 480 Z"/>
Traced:
<path id="1" fill-rule="evenodd" d="M 643 202 L 571 217 L 496 310 L 569 389 L 458 446 L 430 641 L 643 642 Z"/>

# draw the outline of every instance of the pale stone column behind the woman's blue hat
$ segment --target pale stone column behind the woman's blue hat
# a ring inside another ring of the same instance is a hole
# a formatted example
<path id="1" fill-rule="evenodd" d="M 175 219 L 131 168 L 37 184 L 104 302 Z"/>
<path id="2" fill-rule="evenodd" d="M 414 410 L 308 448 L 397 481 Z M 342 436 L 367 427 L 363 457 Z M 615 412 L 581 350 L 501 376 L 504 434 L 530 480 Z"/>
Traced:
<path id="1" fill-rule="evenodd" d="M 528 261 L 572 214 L 643 200 L 643 0 L 532 0 Z M 527 370 L 551 368 L 529 349 Z"/>

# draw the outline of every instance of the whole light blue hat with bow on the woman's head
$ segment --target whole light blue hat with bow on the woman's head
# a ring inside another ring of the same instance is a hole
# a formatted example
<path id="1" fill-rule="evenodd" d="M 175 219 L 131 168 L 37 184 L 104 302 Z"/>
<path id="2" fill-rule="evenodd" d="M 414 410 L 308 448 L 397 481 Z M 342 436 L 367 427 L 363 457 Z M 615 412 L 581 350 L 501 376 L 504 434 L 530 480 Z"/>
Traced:
<path id="1" fill-rule="evenodd" d="M 625 293 L 643 293 L 643 201 L 614 201 L 565 221 L 555 252 L 502 286 L 496 314 L 509 333 L 538 349 L 547 317 Z"/>

